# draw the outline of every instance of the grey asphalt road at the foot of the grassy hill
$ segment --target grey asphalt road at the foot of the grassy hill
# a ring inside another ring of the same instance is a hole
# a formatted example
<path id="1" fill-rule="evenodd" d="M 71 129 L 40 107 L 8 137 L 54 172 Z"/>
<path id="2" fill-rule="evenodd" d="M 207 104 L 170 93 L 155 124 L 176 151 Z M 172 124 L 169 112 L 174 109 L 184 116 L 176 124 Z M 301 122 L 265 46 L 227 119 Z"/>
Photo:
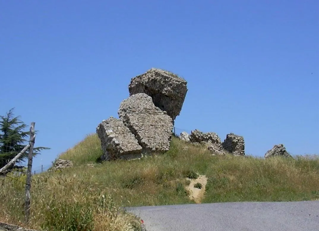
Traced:
<path id="1" fill-rule="evenodd" d="M 319 201 L 129 207 L 147 231 L 319 231 Z"/>

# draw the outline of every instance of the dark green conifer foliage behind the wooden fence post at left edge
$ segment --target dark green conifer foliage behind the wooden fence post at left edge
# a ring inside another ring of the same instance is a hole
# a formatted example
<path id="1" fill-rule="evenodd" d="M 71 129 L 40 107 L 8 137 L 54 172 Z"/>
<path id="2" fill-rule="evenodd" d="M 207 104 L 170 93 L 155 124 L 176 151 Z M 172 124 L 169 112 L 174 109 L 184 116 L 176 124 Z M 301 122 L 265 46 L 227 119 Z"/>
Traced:
<path id="1" fill-rule="evenodd" d="M 5 116 L 0 116 L 0 168 L 14 158 L 29 141 L 30 131 L 25 131 L 28 126 L 19 119 L 20 116 L 14 117 L 13 110 L 14 108 L 11 108 Z M 34 147 L 33 156 L 41 154 L 41 150 L 48 149 L 46 147 Z M 28 151 L 26 151 L 16 164 L 26 160 L 28 155 Z"/>

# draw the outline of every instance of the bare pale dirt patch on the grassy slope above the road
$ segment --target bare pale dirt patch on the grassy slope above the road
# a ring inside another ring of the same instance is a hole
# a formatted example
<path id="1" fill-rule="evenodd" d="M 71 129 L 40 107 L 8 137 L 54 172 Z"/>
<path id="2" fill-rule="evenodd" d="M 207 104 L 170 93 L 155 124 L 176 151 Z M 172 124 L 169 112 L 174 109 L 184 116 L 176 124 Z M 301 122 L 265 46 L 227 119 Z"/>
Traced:
<path id="1" fill-rule="evenodd" d="M 196 204 L 200 204 L 204 198 L 205 187 L 207 184 L 207 177 L 205 175 L 199 175 L 197 179 L 189 179 L 190 184 L 185 187 L 186 191 L 189 192 L 189 198 L 195 201 Z M 200 184 L 201 188 L 195 188 L 196 184 Z"/>

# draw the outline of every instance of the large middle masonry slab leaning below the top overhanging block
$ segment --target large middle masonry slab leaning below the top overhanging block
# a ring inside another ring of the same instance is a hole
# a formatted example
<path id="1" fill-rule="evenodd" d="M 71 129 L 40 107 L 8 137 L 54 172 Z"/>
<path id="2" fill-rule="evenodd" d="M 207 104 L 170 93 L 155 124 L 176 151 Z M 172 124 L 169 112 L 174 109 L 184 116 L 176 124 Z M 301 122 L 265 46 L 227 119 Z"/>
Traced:
<path id="1" fill-rule="evenodd" d="M 156 107 L 150 96 L 137 93 L 123 100 L 118 115 L 144 150 L 169 150 L 173 119 Z"/>

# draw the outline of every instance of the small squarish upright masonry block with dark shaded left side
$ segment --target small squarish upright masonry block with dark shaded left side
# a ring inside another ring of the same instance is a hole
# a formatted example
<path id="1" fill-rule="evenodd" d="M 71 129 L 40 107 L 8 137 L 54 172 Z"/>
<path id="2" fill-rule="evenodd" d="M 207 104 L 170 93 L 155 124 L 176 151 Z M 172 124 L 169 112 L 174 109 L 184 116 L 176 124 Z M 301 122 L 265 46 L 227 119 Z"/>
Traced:
<path id="1" fill-rule="evenodd" d="M 234 156 L 245 155 L 245 142 L 243 136 L 229 133 L 226 135 L 226 139 L 222 145 L 226 151 L 232 153 Z"/>

